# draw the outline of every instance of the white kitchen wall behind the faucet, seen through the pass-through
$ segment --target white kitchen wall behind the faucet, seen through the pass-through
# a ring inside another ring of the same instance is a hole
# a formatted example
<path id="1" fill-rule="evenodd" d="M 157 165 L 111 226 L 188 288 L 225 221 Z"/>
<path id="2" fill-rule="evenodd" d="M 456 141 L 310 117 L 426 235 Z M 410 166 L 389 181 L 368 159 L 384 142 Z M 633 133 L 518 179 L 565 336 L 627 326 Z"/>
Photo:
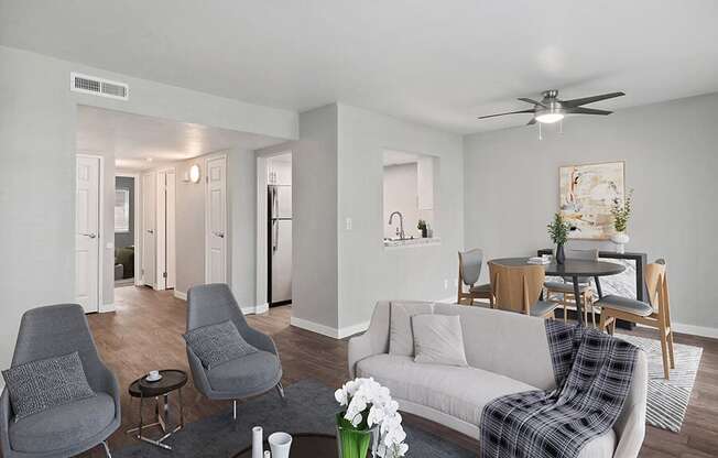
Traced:
<path id="1" fill-rule="evenodd" d="M 400 211 L 404 218 L 404 236 L 421 237 L 418 229 L 418 171 L 417 163 L 384 165 L 383 175 L 383 220 L 384 237 L 395 238 L 400 227 L 394 217 L 389 225 L 389 216 Z"/>

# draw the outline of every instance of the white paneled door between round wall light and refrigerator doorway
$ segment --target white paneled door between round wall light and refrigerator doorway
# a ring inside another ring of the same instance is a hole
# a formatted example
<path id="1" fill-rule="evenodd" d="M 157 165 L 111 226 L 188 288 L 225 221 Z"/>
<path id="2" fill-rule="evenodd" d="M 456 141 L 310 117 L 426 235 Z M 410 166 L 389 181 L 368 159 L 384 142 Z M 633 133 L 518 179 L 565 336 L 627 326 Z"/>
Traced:
<path id="1" fill-rule="evenodd" d="M 227 283 L 227 160 L 207 160 L 205 281 Z"/>

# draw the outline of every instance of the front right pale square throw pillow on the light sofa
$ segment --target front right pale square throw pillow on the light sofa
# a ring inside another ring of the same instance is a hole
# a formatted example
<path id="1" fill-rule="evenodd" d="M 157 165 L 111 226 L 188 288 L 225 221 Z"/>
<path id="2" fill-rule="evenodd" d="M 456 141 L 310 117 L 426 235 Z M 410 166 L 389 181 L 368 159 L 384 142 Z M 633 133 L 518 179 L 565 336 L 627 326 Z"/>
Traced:
<path id="1" fill-rule="evenodd" d="M 414 361 L 432 364 L 469 366 L 464 351 L 461 319 L 450 315 L 415 315 Z"/>

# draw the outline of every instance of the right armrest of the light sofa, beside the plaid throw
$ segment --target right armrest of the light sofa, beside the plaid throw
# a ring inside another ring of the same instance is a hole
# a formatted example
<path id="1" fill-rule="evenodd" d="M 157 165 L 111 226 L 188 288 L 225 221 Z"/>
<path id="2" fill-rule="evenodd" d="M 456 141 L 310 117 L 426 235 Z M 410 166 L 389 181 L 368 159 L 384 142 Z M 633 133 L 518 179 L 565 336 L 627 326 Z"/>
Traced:
<path id="1" fill-rule="evenodd" d="M 635 458 L 639 456 L 645 437 L 648 383 L 649 360 L 645 352 L 640 350 L 638 361 L 633 368 L 631 389 L 623 404 L 623 412 L 613 426 L 618 436 L 618 446 L 613 458 Z"/>

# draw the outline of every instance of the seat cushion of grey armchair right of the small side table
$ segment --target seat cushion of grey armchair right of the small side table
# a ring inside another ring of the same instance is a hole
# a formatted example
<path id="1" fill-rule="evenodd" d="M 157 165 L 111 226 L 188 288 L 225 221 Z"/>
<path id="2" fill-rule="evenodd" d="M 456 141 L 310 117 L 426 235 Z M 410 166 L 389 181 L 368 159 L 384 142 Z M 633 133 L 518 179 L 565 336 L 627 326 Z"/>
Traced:
<path id="1" fill-rule="evenodd" d="M 280 373 L 280 360 L 268 351 L 255 351 L 217 366 L 207 372 L 207 379 L 216 391 L 261 390 Z"/>

